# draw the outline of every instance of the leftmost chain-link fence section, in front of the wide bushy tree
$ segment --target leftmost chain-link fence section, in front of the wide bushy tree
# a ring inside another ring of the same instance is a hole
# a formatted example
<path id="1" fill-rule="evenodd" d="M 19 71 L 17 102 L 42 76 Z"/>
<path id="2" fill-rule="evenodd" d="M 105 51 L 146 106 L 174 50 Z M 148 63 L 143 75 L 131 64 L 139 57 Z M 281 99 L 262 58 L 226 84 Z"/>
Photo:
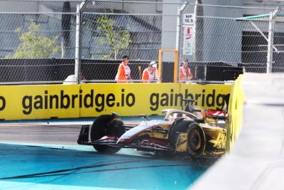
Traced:
<path id="1" fill-rule="evenodd" d="M 74 74 L 81 1 L 0 1 L 0 83 L 60 83 Z"/>

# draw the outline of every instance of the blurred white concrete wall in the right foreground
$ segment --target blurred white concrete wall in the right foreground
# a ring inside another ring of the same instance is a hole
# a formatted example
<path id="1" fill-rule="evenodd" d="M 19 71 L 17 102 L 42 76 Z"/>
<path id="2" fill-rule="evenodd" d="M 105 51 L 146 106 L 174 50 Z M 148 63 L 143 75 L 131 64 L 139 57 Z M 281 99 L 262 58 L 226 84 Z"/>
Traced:
<path id="1" fill-rule="evenodd" d="M 283 74 L 244 75 L 239 137 L 191 189 L 283 189 L 283 81 Z"/>

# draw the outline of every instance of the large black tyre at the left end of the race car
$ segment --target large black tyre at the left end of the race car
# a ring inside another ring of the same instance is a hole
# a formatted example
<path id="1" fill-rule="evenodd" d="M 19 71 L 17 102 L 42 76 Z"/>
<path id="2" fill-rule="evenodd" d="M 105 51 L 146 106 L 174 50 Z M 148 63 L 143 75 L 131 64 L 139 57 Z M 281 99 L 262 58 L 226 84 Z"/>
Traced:
<path id="1" fill-rule="evenodd" d="M 120 137 L 124 132 L 123 122 L 120 118 L 114 118 L 113 115 L 100 115 L 92 124 L 90 136 L 93 142 L 106 135 Z M 113 154 L 120 150 L 120 148 L 110 147 L 104 144 L 94 144 L 93 147 L 98 152 L 105 154 Z"/>

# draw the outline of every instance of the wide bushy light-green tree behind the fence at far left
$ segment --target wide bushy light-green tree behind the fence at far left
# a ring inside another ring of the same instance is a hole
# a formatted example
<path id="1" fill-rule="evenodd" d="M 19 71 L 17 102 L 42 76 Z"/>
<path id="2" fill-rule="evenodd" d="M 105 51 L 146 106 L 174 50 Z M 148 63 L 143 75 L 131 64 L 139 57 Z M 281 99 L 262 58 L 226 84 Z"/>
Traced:
<path id="1" fill-rule="evenodd" d="M 18 49 L 15 51 L 12 58 L 50 58 L 55 53 L 60 52 L 60 46 L 56 46 L 58 36 L 48 38 L 39 36 L 40 24 L 35 24 L 31 21 L 28 31 L 23 32 L 22 28 L 17 28 L 16 33 L 19 33 Z"/>

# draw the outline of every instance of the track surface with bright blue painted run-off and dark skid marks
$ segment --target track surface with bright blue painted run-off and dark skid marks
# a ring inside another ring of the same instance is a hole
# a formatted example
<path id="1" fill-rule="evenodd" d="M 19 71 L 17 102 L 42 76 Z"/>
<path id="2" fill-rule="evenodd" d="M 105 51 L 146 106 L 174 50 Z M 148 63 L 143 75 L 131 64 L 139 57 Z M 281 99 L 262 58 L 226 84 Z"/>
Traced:
<path id="1" fill-rule="evenodd" d="M 80 128 L 1 123 L 0 189 L 187 189 L 214 163 L 133 149 L 100 154 L 77 144 Z"/>

